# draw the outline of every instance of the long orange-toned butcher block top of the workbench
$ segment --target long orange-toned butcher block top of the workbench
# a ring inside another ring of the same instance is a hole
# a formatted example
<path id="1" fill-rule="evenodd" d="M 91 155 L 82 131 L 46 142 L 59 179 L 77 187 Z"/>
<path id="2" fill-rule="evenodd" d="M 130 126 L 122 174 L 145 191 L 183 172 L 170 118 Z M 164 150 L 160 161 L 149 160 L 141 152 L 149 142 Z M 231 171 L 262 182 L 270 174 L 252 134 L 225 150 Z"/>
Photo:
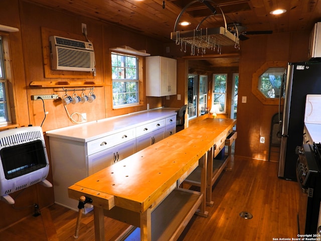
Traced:
<path id="1" fill-rule="evenodd" d="M 193 133 L 193 130 L 208 128 L 210 133 L 215 133 L 211 138 L 177 133 L 75 183 L 69 187 L 69 196 L 89 195 L 105 209 L 115 205 L 144 212 L 198 164 L 198 160 L 213 146 L 215 136 L 232 128 L 233 124 L 234 120 L 205 119 L 188 129 Z"/>

